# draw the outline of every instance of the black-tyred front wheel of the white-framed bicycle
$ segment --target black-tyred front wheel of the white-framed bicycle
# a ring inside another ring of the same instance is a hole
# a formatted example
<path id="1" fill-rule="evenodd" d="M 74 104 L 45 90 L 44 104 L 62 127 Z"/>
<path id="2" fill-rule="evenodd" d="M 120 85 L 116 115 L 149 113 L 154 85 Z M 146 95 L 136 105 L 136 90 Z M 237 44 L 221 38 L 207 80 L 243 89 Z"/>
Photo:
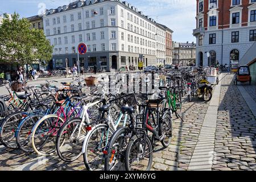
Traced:
<path id="1" fill-rule="evenodd" d="M 82 142 L 87 132 L 86 130 L 81 130 L 79 135 L 81 122 L 81 118 L 73 118 L 65 122 L 57 134 L 57 154 L 65 162 L 73 162 L 82 155 Z M 82 127 L 85 127 L 85 125 Z"/>

